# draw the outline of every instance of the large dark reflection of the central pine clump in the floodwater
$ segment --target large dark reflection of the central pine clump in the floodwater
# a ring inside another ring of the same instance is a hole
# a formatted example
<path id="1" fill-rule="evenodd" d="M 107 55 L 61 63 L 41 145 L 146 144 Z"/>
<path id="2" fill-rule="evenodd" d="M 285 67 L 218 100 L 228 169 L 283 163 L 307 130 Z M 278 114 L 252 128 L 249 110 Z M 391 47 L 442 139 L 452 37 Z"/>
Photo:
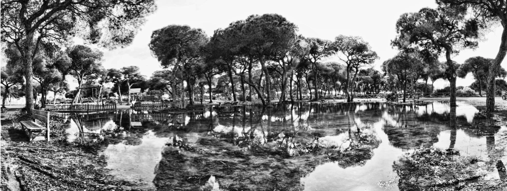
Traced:
<path id="1" fill-rule="evenodd" d="M 303 189 L 300 178 L 321 163 L 350 167 L 372 157 L 379 139 L 355 113 L 380 105 L 242 107 L 240 117 L 209 115 L 205 123 L 212 125 L 197 132 L 198 141 L 174 136 L 154 182 L 161 190 L 195 190 L 213 176 L 225 189 Z"/>

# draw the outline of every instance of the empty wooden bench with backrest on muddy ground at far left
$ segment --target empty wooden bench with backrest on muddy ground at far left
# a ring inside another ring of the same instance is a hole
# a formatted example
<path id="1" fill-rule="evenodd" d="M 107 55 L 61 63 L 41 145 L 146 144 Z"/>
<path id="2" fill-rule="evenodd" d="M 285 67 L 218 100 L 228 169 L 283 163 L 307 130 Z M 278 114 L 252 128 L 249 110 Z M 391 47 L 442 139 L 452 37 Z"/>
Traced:
<path id="1" fill-rule="evenodd" d="M 41 111 L 41 110 L 33 110 L 32 111 L 32 117 L 33 121 L 20 121 L 21 128 L 26 132 L 26 135 L 28 135 L 28 141 L 32 141 L 32 133 L 37 132 L 41 133 L 42 131 L 46 130 L 46 141 L 49 141 L 49 112 L 47 111 Z M 43 127 L 42 125 L 39 125 L 38 123 L 35 123 L 35 120 L 39 120 L 41 122 L 46 123 L 46 127 Z"/>

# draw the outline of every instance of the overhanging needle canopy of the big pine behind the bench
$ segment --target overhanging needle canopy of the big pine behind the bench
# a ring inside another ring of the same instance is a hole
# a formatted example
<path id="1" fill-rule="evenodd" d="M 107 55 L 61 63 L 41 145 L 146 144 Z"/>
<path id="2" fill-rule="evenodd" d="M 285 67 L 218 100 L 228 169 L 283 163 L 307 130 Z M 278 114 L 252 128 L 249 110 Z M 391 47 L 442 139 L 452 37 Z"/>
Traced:
<path id="1" fill-rule="evenodd" d="M 36 47 L 63 44 L 73 36 L 105 47 L 124 46 L 155 9 L 153 0 L 2 1 L 2 41 L 17 43 L 35 32 L 40 36 Z"/>

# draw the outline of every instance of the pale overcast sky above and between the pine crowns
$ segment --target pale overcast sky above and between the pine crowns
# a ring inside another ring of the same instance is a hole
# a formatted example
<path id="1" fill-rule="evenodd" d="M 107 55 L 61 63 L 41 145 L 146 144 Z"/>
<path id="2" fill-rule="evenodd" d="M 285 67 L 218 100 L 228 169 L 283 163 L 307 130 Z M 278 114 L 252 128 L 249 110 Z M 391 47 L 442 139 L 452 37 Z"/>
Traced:
<path id="1" fill-rule="evenodd" d="M 276 13 L 287 18 L 299 27 L 299 33 L 306 37 L 333 40 L 343 35 L 361 36 L 377 52 L 380 60 L 374 68 L 380 69 L 383 61 L 393 57 L 390 40 L 396 36 L 396 20 L 403 13 L 417 12 L 421 8 L 436 8 L 434 0 L 363 0 L 363 1 L 172 1 L 159 0 L 158 10 L 147 17 L 147 22 L 135 36 L 133 42 L 124 49 L 104 51 L 105 68 L 139 66 L 147 77 L 160 70 L 161 66 L 148 47 L 152 31 L 167 25 L 189 25 L 203 29 L 208 36 L 218 28 L 229 23 L 244 20 L 249 15 Z M 453 60 L 463 63 L 469 57 L 482 56 L 494 58 L 498 52 L 501 29 L 493 29 L 479 43 L 476 50 L 462 50 Z M 79 41 L 79 40 L 78 40 Z M 78 42 L 79 43 L 79 42 Z M 445 60 L 445 59 L 444 59 Z M 339 61 L 329 59 L 329 61 Z M 505 67 L 505 62 L 502 63 Z M 458 78 L 457 85 L 468 86 L 473 77 Z M 449 83 L 438 81 L 436 87 Z"/>

